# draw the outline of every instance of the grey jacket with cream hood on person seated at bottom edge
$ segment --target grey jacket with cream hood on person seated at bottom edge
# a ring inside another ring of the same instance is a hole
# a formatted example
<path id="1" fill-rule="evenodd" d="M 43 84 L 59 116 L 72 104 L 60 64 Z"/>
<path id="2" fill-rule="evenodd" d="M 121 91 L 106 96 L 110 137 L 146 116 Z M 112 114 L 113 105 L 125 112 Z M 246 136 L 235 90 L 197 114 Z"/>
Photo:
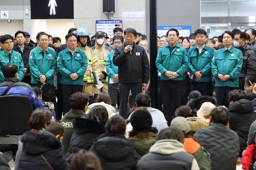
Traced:
<path id="1" fill-rule="evenodd" d="M 199 169 L 193 155 L 183 149 L 178 140 L 157 141 L 137 164 L 137 170 Z"/>

